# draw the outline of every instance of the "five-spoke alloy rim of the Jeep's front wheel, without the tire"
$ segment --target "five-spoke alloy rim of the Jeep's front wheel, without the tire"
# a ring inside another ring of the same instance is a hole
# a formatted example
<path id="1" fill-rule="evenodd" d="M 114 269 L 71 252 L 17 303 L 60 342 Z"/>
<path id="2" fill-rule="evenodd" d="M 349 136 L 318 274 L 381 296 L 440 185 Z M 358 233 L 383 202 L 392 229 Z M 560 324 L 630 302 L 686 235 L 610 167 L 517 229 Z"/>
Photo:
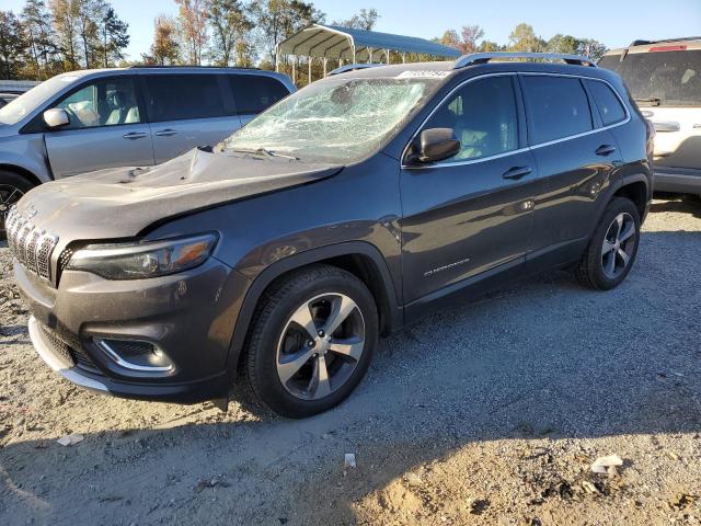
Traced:
<path id="1" fill-rule="evenodd" d="M 285 324 L 277 346 L 277 375 L 302 400 L 338 390 L 353 375 L 365 350 L 365 320 L 356 302 L 340 293 L 300 305 Z"/>

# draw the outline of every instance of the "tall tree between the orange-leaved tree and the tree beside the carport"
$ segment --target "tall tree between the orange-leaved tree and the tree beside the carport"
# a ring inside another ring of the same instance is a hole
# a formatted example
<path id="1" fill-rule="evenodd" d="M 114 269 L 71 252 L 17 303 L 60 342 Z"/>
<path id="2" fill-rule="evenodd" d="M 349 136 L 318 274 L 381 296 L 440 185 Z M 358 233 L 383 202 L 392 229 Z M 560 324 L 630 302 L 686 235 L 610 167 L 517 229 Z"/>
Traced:
<path id="1" fill-rule="evenodd" d="M 215 64 L 229 66 L 232 59 L 248 61 L 252 49 L 246 45 L 253 23 L 239 0 L 209 0 L 209 23 Z"/>

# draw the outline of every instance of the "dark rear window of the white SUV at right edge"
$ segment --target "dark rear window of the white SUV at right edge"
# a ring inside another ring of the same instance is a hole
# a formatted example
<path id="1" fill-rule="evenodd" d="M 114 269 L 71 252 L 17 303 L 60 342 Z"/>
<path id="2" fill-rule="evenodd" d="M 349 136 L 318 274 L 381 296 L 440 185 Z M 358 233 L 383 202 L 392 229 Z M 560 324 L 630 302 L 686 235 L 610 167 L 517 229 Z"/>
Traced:
<path id="1" fill-rule="evenodd" d="M 685 46 L 656 46 L 651 53 L 607 55 L 599 66 L 623 77 L 640 105 L 701 106 L 701 49 L 665 50 Z"/>

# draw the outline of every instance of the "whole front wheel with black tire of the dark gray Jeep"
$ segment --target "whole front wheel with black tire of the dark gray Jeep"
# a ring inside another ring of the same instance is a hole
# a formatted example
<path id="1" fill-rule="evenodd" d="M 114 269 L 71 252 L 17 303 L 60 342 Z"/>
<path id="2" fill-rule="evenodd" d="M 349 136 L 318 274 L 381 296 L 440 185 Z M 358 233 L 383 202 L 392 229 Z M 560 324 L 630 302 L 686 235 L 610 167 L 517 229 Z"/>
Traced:
<path id="1" fill-rule="evenodd" d="M 375 299 L 356 276 L 330 265 L 296 271 L 261 298 L 242 354 L 243 385 L 283 416 L 326 411 L 365 376 L 378 325 Z"/>

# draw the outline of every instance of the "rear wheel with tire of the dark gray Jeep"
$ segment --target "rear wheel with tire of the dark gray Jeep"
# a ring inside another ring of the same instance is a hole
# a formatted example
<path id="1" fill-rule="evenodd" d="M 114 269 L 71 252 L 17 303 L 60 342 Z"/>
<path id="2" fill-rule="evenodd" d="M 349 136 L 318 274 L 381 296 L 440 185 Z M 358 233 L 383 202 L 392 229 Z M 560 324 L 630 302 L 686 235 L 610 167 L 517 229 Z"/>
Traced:
<path id="1" fill-rule="evenodd" d="M 633 266 L 639 243 L 637 207 L 625 197 L 614 197 L 582 255 L 575 271 L 578 282 L 595 290 L 619 286 Z"/>

